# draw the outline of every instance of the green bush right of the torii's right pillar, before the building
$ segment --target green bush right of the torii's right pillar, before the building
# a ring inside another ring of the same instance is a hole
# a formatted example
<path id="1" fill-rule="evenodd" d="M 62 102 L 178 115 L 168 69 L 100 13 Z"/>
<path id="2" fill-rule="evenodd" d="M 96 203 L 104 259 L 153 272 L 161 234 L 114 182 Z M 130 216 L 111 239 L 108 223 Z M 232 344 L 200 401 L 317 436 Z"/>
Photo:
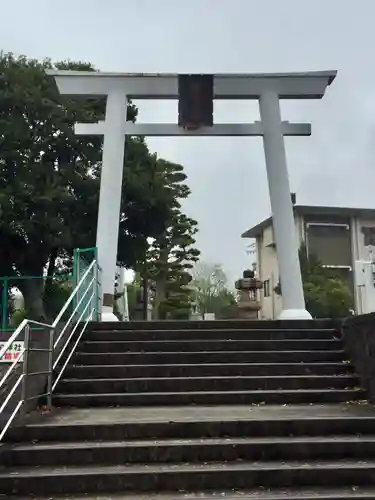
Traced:
<path id="1" fill-rule="evenodd" d="M 325 268 L 305 245 L 299 250 L 306 309 L 313 318 L 343 318 L 351 314 L 353 296 L 349 285 L 334 270 Z M 281 294 L 280 284 L 275 289 Z"/>

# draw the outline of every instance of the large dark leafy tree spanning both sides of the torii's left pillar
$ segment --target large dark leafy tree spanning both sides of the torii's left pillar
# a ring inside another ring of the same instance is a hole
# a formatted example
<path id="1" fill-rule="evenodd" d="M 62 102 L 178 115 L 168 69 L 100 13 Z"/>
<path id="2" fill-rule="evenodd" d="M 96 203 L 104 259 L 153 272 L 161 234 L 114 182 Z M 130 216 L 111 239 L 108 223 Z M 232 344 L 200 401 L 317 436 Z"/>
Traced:
<path id="1" fill-rule="evenodd" d="M 102 138 L 74 134 L 74 123 L 103 118 L 100 99 L 60 96 L 47 69 L 94 71 L 88 63 L 52 64 L 0 53 L 0 275 L 71 267 L 74 247 L 95 245 Z M 129 120 L 137 110 L 130 103 Z M 127 138 L 118 261 L 135 267 L 147 237 L 166 226 L 173 200 L 155 155 Z M 142 253 L 143 252 L 143 253 Z M 69 263 L 70 260 L 70 263 Z M 44 319 L 45 280 L 23 280 L 26 315 Z"/>

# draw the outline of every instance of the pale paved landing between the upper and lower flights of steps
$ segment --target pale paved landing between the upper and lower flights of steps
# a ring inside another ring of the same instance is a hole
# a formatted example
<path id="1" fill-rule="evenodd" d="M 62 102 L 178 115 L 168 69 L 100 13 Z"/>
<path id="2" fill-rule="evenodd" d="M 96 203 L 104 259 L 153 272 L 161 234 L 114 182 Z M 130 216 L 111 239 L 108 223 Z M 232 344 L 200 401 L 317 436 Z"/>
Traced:
<path id="1" fill-rule="evenodd" d="M 183 406 L 142 408 L 55 409 L 33 425 L 79 425 L 88 423 L 191 422 L 217 420 L 270 420 L 290 418 L 375 418 L 369 404 L 260 405 L 260 406 Z"/>

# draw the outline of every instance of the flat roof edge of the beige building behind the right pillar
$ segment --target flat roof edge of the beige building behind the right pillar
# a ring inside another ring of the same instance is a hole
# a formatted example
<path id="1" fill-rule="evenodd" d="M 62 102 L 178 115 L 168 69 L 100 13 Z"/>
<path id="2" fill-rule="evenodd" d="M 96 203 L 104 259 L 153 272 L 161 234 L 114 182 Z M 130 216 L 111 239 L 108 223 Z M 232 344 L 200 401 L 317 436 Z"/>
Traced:
<path id="1" fill-rule="evenodd" d="M 322 207 L 322 206 L 309 206 L 309 205 L 295 205 L 294 212 L 298 215 L 346 215 L 349 217 L 362 217 L 374 218 L 375 208 L 352 208 L 352 207 Z M 264 219 L 256 226 L 251 227 L 244 233 L 242 238 L 257 238 L 264 229 L 272 224 L 272 217 Z"/>

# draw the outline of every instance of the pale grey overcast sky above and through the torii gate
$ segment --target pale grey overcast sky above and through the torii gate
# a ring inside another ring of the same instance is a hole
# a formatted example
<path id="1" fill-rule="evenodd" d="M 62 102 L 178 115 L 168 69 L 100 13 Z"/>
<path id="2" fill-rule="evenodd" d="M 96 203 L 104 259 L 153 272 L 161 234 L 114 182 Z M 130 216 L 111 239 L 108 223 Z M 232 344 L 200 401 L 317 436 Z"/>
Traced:
<path id="1" fill-rule="evenodd" d="M 103 71 L 288 72 L 337 69 L 322 101 L 283 103 L 311 122 L 287 138 L 297 202 L 375 207 L 374 0 L 0 0 L 0 48 Z M 59 7 L 60 6 L 60 7 Z M 141 106 L 143 121 L 176 120 L 174 103 Z M 218 121 L 259 119 L 255 103 L 221 102 Z M 186 167 L 203 258 L 231 279 L 251 263 L 240 234 L 269 215 L 260 138 L 150 139 Z"/>

